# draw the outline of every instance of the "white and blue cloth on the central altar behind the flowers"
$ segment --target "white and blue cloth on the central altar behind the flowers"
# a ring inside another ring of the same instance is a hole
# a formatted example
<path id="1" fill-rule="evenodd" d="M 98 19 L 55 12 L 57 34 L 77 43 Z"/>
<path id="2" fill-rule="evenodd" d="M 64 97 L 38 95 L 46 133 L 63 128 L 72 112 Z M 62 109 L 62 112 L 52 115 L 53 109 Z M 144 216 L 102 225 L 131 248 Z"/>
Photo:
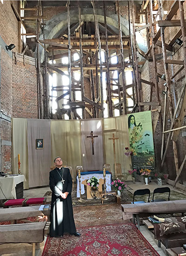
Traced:
<path id="1" fill-rule="evenodd" d="M 92 177 L 96 177 L 98 179 L 104 179 L 103 171 L 89 171 L 89 172 L 81 172 L 81 195 L 85 194 L 85 185 L 82 184 L 82 181 L 89 180 Z M 78 175 L 76 177 L 77 183 L 77 197 L 80 197 L 80 182 Z M 106 171 L 106 192 L 111 191 L 111 173 Z"/>

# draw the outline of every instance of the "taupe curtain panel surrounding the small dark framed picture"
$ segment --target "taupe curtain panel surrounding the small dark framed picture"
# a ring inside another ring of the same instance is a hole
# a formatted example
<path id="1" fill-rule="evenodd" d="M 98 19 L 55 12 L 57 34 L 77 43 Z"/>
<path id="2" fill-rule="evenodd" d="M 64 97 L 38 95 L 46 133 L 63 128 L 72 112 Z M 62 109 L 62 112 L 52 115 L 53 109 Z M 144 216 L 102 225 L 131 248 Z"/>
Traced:
<path id="1" fill-rule="evenodd" d="M 50 120 L 27 119 L 29 188 L 49 184 L 51 159 Z M 36 139 L 43 139 L 44 148 L 36 149 Z"/>

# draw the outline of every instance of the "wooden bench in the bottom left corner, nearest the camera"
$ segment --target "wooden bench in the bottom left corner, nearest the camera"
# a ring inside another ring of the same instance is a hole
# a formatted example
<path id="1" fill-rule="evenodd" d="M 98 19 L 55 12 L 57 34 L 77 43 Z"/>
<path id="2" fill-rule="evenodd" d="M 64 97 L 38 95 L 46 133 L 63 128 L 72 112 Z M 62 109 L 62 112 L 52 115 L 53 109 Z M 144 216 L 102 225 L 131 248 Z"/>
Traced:
<path id="1" fill-rule="evenodd" d="M 32 243 L 35 256 L 36 244 L 39 249 L 39 243 L 44 240 L 44 235 L 48 232 L 50 223 L 32 222 L 25 224 L 0 225 L 1 243 Z"/>

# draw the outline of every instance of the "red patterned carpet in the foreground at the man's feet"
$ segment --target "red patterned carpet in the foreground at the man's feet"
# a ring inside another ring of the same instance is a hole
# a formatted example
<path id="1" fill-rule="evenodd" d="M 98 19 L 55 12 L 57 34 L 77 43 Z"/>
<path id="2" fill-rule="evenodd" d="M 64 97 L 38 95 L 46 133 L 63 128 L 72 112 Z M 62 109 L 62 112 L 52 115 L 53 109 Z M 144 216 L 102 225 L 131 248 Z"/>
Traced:
<path id="1" fill-rule="evenodd" d="M 80 237 L 47 237 L 42 256 L 159 256 L 132 223 L 78 231 Z"/>

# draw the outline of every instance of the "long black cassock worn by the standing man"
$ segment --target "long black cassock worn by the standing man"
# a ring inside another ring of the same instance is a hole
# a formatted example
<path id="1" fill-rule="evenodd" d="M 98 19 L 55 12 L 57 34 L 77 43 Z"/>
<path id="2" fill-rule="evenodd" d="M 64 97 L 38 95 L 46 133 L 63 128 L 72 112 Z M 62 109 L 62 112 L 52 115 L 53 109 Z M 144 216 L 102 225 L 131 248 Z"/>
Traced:
<path id="1" fill-rule="evenodd" d="M 50 171 L 50 189 L 52 190 L 50 236 L 63 236 L 63 233 L 76 232 L 72 206 L 72 177 L 68 168 L 55 168 Z M 64 184 L 62 182 L 64 181 Z M 68 192 L 66 199 L 60 194 Z"/>

